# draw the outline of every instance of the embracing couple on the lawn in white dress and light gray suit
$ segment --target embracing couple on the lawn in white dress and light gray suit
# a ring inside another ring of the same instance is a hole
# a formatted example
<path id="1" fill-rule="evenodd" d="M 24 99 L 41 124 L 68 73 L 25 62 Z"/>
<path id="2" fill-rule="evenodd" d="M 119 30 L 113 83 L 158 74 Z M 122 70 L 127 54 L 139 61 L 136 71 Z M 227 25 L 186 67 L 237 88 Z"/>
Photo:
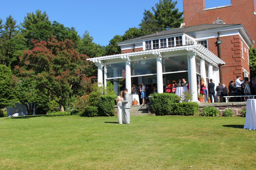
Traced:
<path id="1" fill-rule="evenodd" d="M 117 119 L 120 124 L 130 124 L 130 95 L 128 94 L 128 90 L 124 89 L 120 91 L 119 96 L 117 97 L 117 105 L 118 105 L 118 114 Z"/>

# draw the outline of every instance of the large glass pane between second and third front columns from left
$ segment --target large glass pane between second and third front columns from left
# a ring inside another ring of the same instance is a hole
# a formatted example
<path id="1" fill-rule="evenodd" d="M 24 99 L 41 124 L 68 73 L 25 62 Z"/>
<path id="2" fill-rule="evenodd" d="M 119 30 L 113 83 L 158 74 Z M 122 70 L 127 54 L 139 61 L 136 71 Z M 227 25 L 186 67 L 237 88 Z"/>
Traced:
<path id="1" fill-rule="evenodd" d="M 156 59 L 131 62 L 131 75 L 156 74 Z"/>

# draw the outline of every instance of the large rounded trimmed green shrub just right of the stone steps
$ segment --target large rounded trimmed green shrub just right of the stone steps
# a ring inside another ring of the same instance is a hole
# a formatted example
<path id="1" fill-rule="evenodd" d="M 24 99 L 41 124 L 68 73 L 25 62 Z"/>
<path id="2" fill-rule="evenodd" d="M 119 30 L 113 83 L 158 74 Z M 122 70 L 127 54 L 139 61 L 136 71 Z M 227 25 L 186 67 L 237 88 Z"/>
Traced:
<path id="1" fill-rule="evenodd" d="M 180 98 L 173 93 L 155 93 L 152 94 L 152 109 L 156 115 L 170 115 L 174 110 L 176 105 L 173 103 L 178 103 Z M 172 105 L 173 104 L 173 105 Z"/>

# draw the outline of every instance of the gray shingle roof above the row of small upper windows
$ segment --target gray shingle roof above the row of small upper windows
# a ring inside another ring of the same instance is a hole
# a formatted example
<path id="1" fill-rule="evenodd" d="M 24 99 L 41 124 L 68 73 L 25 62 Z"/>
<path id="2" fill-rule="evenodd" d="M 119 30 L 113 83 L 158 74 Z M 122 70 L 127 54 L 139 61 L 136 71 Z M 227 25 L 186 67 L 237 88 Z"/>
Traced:
<path id="1" fill-rule="evenodd" d="M 234 25 L 241 25 L 241 24 L 200 24 L 200 25 L 193 25 L 193 26 L 188 26 L 188 27 L 174 28 L 174 29 L 161 31 L 161 32 L 157 33 L 157 36 L 166 35 L 166 34 L 182 33 L 182 32 L 189 33 L 189 32 L 202 31 L 202 30 L 210 30 L 210 29 L 215 29 L 215 28 L 230 27 L 230 26 L 234 26 Z M 141 40 L 143 38 L 152 37 L 152 36 L 156 36 L 156 33 L 144 35 L 144 36 L 137 37 L 137 38 L 132 38 L 130 40 L 125 40 L 125 41 L 121 41 L 121 42 Z"/>

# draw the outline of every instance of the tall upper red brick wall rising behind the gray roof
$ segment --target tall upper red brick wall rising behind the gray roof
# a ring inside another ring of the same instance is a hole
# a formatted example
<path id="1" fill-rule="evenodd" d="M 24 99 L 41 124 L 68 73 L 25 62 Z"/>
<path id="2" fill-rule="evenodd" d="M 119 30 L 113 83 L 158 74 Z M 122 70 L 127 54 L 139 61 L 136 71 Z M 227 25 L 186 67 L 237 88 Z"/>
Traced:
<path id="1" fill-rule="evenodd" d="M 205 10 L 205 0 L 183 0 L 185 27 L 198 24 L 212 24 L 222 19 L 226 24 L 243 24 L 252 40 L 256 41 L 256 15 L 254 0 L 231 0 L 232 6 Z M 216 7 L 219 6 L 216 4 Z M 256 48 L 256 45 L 253 45 Z"/>

